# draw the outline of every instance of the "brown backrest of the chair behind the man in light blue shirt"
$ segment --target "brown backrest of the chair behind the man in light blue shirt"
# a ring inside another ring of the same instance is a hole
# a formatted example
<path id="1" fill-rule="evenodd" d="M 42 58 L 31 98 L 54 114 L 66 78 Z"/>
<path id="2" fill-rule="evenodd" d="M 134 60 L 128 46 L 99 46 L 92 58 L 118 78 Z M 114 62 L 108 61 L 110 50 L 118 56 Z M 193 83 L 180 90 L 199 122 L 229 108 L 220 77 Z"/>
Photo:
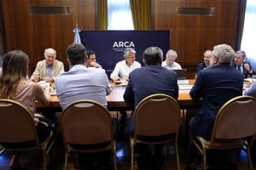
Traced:
<path id="1" fill-rule="evenodd" d="M 67 144 L 100 144 L 112 141 L 111 116 L 93 100 L 79 100 L 62 113 L 62 133 Z"/>

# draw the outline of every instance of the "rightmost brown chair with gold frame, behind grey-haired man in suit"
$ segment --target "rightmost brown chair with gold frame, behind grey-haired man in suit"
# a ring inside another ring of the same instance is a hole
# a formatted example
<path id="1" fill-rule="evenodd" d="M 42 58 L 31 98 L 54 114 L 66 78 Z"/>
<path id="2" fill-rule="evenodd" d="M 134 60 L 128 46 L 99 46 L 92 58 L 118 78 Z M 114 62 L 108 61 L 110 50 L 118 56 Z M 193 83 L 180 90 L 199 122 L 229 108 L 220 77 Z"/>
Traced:
<path id="1" fill-rule="evenodd" d="M 249 143 L 256 134 L 256 99 L 238 96 L 227 101 L 218 111 L 210 140 L 202 137 L 192 139 L 201 152 L 203 168 L 207 169 L 207 150 L 228 150 L 245 147 L 249 168 L 253 170 Z"/>

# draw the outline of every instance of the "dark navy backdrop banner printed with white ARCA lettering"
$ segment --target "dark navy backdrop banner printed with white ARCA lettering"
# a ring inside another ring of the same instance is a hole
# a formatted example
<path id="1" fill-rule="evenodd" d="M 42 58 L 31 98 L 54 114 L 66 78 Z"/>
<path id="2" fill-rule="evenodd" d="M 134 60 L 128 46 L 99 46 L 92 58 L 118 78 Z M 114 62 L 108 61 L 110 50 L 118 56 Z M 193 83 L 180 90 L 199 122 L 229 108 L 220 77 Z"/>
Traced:
<path id="1" fill-rule="evenodd" d="M 134 48 L 136 60 L 143 65 L 143 51 L 151 46 L 163 50 L 164 59 L 170 48 L 171 31 L 80 31 L 86 49 L 96 52 L 96 60 L 108 77 L 115 64 L 124 59 L 125 48 Z"/>

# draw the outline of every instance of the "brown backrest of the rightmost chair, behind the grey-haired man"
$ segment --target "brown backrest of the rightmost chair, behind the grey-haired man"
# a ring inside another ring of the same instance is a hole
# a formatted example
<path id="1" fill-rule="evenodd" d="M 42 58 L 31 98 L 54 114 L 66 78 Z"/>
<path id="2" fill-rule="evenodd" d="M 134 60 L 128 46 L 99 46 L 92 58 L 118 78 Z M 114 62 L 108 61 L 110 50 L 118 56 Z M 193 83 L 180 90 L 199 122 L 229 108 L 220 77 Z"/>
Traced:
<path id="1" fill-rule="evenodd" d="M 238 96 L 227 101 L 218 111 L 212 130 L 215 139 L 242 139 L 256 133 L 256 99 Z"/>

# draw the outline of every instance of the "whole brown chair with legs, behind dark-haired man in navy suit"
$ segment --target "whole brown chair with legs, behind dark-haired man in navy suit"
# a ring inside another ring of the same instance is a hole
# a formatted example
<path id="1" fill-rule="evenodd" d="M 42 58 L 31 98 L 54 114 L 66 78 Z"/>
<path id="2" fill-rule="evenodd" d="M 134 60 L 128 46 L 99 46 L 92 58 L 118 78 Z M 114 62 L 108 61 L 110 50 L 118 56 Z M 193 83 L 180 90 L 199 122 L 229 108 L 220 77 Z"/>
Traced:
<path id="1" fill-rule="evenodd" d="M 173 144 L 177 169 L 180 169 L 177 147 L 180 107 L 177 100 L 166 94 L 152 94 L 137 105 L 133 114 L 135 124 L 134 135 L 130 137 L 131 170 L 134 168 L 135 144 Z"/>

